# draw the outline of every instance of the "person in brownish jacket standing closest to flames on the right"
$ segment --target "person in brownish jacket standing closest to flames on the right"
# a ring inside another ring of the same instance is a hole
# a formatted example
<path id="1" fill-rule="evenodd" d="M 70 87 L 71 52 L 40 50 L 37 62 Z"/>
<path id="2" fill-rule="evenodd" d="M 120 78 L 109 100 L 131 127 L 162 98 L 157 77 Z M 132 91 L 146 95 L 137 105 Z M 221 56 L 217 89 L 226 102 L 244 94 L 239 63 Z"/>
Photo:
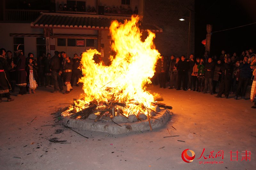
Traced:
<path id="1" fill-rule="evenodd" d="M 160 88 L 166 88 L 165 84 L 166 84 L 166 71 L 167 71 L 167 63 L 164 60 L 164 56 L 161 56 L 161 59 L 158 60 L 158 70 L 159 70 L 159 74 L 158 74 L 158 78 L 159 78 L 159 83 L 160 83 Z"/>

